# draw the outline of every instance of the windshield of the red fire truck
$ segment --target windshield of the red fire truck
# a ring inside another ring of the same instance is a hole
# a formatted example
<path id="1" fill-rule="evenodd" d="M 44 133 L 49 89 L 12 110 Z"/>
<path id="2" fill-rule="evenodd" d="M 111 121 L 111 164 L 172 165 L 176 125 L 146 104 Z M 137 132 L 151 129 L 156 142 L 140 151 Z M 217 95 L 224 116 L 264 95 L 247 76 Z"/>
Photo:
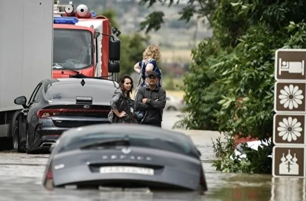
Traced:
<path id="1" fill-rule="evenodd" d="M 54 29 L 53 35 L 53 68 L 81 69 L 92 65 L 90 31 Z"/>

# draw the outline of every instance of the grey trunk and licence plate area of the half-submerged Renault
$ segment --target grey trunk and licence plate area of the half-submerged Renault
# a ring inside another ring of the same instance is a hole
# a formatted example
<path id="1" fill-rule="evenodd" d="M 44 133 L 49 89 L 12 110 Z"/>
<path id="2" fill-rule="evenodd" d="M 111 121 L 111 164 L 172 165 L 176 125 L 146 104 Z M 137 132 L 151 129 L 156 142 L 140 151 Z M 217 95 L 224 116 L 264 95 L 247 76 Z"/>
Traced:
<path id="1" fill-rule="evenodd" d="M 62 164 L 63 168 L 56 170 L 55 185 L 198 188 L 199 160 L 139 147 L 130 147 L 132 152 L 123 154 L 123 148 L 73 150 L 56 156 L 54 164 Z"/>

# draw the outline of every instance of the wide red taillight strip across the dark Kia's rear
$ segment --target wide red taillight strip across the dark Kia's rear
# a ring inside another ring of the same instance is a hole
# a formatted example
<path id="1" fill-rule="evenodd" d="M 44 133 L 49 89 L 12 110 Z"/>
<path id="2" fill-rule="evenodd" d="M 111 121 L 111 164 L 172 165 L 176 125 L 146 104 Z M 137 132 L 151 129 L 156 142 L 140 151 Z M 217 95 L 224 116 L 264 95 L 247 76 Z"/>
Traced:
<path id="1" fill-rule="evenodd" d="M 47 118 L 61 113 L 109 113 L 110 110 L 98 109 L 42 109 L 38 110 L 36 115 L 38 118 Z"/>

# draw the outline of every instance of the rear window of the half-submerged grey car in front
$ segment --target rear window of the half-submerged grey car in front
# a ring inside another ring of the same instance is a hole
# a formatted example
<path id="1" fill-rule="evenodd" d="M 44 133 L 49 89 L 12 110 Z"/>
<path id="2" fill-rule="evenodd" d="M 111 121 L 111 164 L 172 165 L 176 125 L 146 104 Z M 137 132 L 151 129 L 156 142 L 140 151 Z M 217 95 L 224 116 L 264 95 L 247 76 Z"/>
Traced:
<path id="1" fill-rule="evenodd" d="M 74 137 L 72 135 L 66 136 L 62 141 L 58 153 L 68 152 L 71 150 L 79 149 L 81 146 L 88 143 L 95 143 L 100 140 L 119 139 L 126 136 L 127 133 L 93 133 L 83 136 Z M 171 139 L 161 139 L 154 136 L 128 134 L 131 146 L 146 147 L 153 149 L 161 149 L 167 152 L 173 152 L 183 155 L 195 157 L 188 142 L 177 142 Z"/>

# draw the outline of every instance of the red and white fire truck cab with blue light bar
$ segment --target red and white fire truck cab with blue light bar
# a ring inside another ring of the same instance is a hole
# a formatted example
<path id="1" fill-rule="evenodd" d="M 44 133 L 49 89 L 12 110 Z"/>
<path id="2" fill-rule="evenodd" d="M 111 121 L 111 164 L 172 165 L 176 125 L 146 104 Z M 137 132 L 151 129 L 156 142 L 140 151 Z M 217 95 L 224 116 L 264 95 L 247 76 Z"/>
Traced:
<path id="1" fill-rule="evenodd" d="M 110 77 L 120 70 L 120 31 L 86 5 L 54 5 L 53 78 Z"/>

